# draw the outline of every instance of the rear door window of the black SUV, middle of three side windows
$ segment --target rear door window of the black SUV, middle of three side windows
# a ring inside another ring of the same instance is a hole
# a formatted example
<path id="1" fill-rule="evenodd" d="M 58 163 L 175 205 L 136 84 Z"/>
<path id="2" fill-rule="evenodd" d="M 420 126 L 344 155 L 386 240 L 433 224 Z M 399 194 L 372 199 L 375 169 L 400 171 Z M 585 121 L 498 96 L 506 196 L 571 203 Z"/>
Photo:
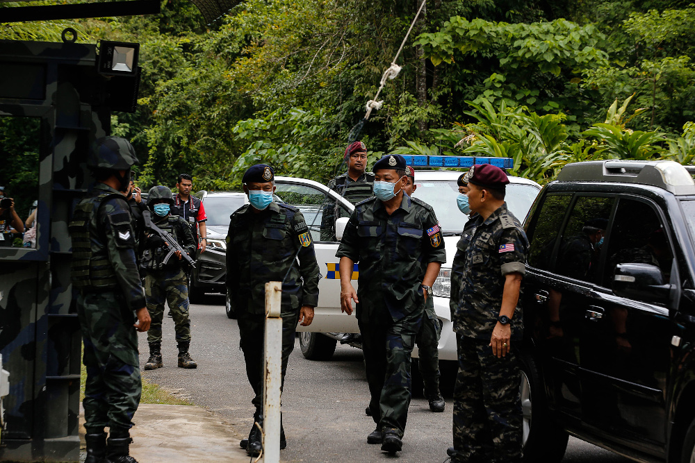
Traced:
<path id="1" fill-rule="evenodd" d="M 582 281 L 595 280 L 600 239 L 605 235 L 614 199 L 579 196 L 562 233 L 555 271 Z"/>

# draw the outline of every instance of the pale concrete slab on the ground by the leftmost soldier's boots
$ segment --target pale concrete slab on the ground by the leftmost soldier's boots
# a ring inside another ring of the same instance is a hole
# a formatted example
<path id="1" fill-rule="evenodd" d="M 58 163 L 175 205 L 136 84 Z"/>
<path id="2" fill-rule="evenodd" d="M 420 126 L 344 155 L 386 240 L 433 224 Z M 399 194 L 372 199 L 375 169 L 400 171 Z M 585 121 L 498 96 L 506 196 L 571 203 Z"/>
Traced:
<path id="1" fill-rule="evenodd" d="M 82 409 L 82 407 L 80 407 Z M 140 404 L 131 428 L 131 455 L 141 463 L 248 463 L 234 430 L 195 405 Z M 84 446 L 84 415 L 80 440 Z M 82 452 L 84 453 L 84 452 Z"/>

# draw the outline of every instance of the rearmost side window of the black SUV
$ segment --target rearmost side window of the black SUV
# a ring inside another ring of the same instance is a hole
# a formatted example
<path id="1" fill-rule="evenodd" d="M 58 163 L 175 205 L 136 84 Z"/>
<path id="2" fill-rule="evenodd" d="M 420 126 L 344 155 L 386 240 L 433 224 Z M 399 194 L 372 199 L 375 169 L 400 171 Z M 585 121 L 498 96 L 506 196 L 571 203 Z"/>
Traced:
<path id="1" fill-rule="evenodd" d="M 553 256 L 555 239 L 562 227 L 562 221 L 571 199 L 572 196 L 567 194 L 548 194 L 543 199 L 541 211 L 539 214 L 535 214 L 537 219 L 532 224 L 532 228 L 528 230 L 528 237 L 531 241 L 528 264 L 531 267 L 542 270 L 550 269 L 550 258 Z M 542 219 L 538 217 L 542 217 Z"/>

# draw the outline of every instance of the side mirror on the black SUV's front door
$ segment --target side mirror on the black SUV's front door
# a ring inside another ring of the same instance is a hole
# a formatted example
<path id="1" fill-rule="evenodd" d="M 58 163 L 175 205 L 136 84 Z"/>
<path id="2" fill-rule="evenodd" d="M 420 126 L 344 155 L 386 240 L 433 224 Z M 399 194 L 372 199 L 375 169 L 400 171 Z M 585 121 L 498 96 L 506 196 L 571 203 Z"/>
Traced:
<path id="1" fill-rule="evenodd" d="M 661 269 L 652 264 L 618 264 L 613 276 L 613 292 L 637 301 L 665 304 L 671 285 L 664 285 Z"/>

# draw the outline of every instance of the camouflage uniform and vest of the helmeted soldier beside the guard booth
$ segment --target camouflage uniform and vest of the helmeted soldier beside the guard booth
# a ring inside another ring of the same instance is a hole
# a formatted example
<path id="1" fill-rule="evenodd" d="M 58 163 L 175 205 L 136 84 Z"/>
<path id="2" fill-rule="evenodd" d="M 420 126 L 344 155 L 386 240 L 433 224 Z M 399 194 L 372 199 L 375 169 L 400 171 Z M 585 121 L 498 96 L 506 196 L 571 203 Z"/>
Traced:
<path id="1" fill-rule="evenodd" d="M 138 336 L 134 311 L 145 307 L 136 267 L 135 230 L 124 196 L 97 183 L 70 223 L 72 280 L 80 289 L 78 317 L 84 341 L 85 428 L 133 426 L 140 402 Z"/>

